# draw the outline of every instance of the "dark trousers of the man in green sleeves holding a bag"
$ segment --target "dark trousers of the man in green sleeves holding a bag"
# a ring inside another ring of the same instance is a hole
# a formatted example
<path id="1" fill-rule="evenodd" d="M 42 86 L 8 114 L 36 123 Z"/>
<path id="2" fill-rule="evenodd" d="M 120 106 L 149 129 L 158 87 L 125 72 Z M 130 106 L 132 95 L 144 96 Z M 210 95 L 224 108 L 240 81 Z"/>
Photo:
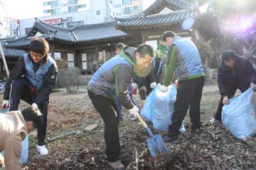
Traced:
<path id="1" fill-rule="evenodd" d="M 204 87 L 204 77 L 179 82 L 176 101 L 174 103 L 174 112 L 172 115 L 172 125 L 169 125 L 168 136 L 178 136 L 179 128 L 184 120 L 189 108 L 189 116 L 192 123 L 192 129 L 199 129 L 200 122 L 200 103 Z"/>

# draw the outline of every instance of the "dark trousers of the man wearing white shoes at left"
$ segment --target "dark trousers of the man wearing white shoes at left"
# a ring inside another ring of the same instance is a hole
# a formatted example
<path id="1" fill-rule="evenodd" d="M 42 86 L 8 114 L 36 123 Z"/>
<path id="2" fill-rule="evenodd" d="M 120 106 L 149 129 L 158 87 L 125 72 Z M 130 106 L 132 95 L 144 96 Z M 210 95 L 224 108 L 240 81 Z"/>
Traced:
<path id="1" fill-rule="evenodd" d="M 31 92 L 31 87 L 31 83 L 26 78 L 13 80 L 10 94 L 10 111 L 18 110 L 20 99 L 26 101 L 28 104 L 35 102 L 36 92 Z M 44 101 L 42 104 L 38 105 L 44 117 L 44 124 L 41 128 L 37 129 L 37 143 L 40 146 L 44 145 L 46 135 L 48 103 L 48 101 Z"/>

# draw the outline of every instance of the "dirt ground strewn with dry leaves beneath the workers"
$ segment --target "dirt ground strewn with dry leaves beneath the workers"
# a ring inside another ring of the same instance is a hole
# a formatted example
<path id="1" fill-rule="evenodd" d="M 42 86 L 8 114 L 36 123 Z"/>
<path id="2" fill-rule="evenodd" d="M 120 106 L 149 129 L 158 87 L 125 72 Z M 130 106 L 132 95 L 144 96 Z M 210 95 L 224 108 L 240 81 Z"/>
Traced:
<path id="1" fill-rule="evenodd" d="M 142 108 L 145 101 L 136 95 Z M 3 99 L 3 94 L 0 95 Z M 202 132 L 191 132 L 187 115 L 187 129 L 180 136 L 180 144 L 166 144 L 169 153 L 152 159 L 145 143 L 148 138 L 138 121 L 131 122 L 124 110 L 120 122 L 121 160 L 127 169 L 256 169 L 256 138 L 244 143 L 232 137 L 219 122 L 209 120 L 216 111 L 220 94 L 216 85 L 206 85 L 202 97 Z M 20 109 L 26 106 L 22 102 Z M 104 124 L 86 93 L 85 87 L 77 94 L 66 94 L 65 90 L 54 92 L 49 104 L 47 137 L 83 129 L 97 124 L 90 132 L 82 132 L 47 143 L 49 155 L 40 157 L 36 153 L 36 132 L 29 135 L 29 162 L 23 169 L 110 169 L 104 154 Z M 149 124 L 152 128 L 152 125 Z M 153 131 L 155 134 L 165 132 Z"/>

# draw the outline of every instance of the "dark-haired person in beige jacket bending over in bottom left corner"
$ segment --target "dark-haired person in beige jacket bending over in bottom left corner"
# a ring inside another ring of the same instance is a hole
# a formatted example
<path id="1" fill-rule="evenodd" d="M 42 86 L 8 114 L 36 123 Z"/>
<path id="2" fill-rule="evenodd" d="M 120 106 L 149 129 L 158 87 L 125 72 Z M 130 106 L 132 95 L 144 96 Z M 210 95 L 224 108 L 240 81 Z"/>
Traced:
<path id="1" fill-rule="evenodd" d="M 33 129 L 42 127 L 43 122 L 42 113 L 30 106 L 22 111 L 0 114 L 0 152 L 4 150 L 4 159 L 0 153 L 0 167 L 21 169 L 22 141 Z"/>

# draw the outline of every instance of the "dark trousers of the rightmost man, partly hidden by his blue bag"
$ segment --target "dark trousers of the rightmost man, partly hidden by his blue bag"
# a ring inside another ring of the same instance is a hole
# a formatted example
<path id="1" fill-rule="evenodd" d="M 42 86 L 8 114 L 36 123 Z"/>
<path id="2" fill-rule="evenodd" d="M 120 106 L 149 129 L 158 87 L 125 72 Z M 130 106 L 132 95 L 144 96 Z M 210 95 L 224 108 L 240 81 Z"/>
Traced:
<path id="1" fill-rule="evenodd" d="M 234 97 L 234 95 L 236 94 L 236 90 L 239 89 L 242 93 L 245 92 L 248 88 L 250 87 L 250 84 L 249 85 L 231 85 L 230 87 L 227 87 L 229 90 L 228 90 L 228 99 Z M 219 120 L 221 121 L 221 113 L 222 113 L 222 107 L 224 106 L 223 104 L 223 96 L 221 96 L 220 98 L 220 103 L 219 103 L 219 106 L 218 106 L 218 110 L 216 111 L 216 113 L 214 114 L 214 118 L 216 120 Z"/>

